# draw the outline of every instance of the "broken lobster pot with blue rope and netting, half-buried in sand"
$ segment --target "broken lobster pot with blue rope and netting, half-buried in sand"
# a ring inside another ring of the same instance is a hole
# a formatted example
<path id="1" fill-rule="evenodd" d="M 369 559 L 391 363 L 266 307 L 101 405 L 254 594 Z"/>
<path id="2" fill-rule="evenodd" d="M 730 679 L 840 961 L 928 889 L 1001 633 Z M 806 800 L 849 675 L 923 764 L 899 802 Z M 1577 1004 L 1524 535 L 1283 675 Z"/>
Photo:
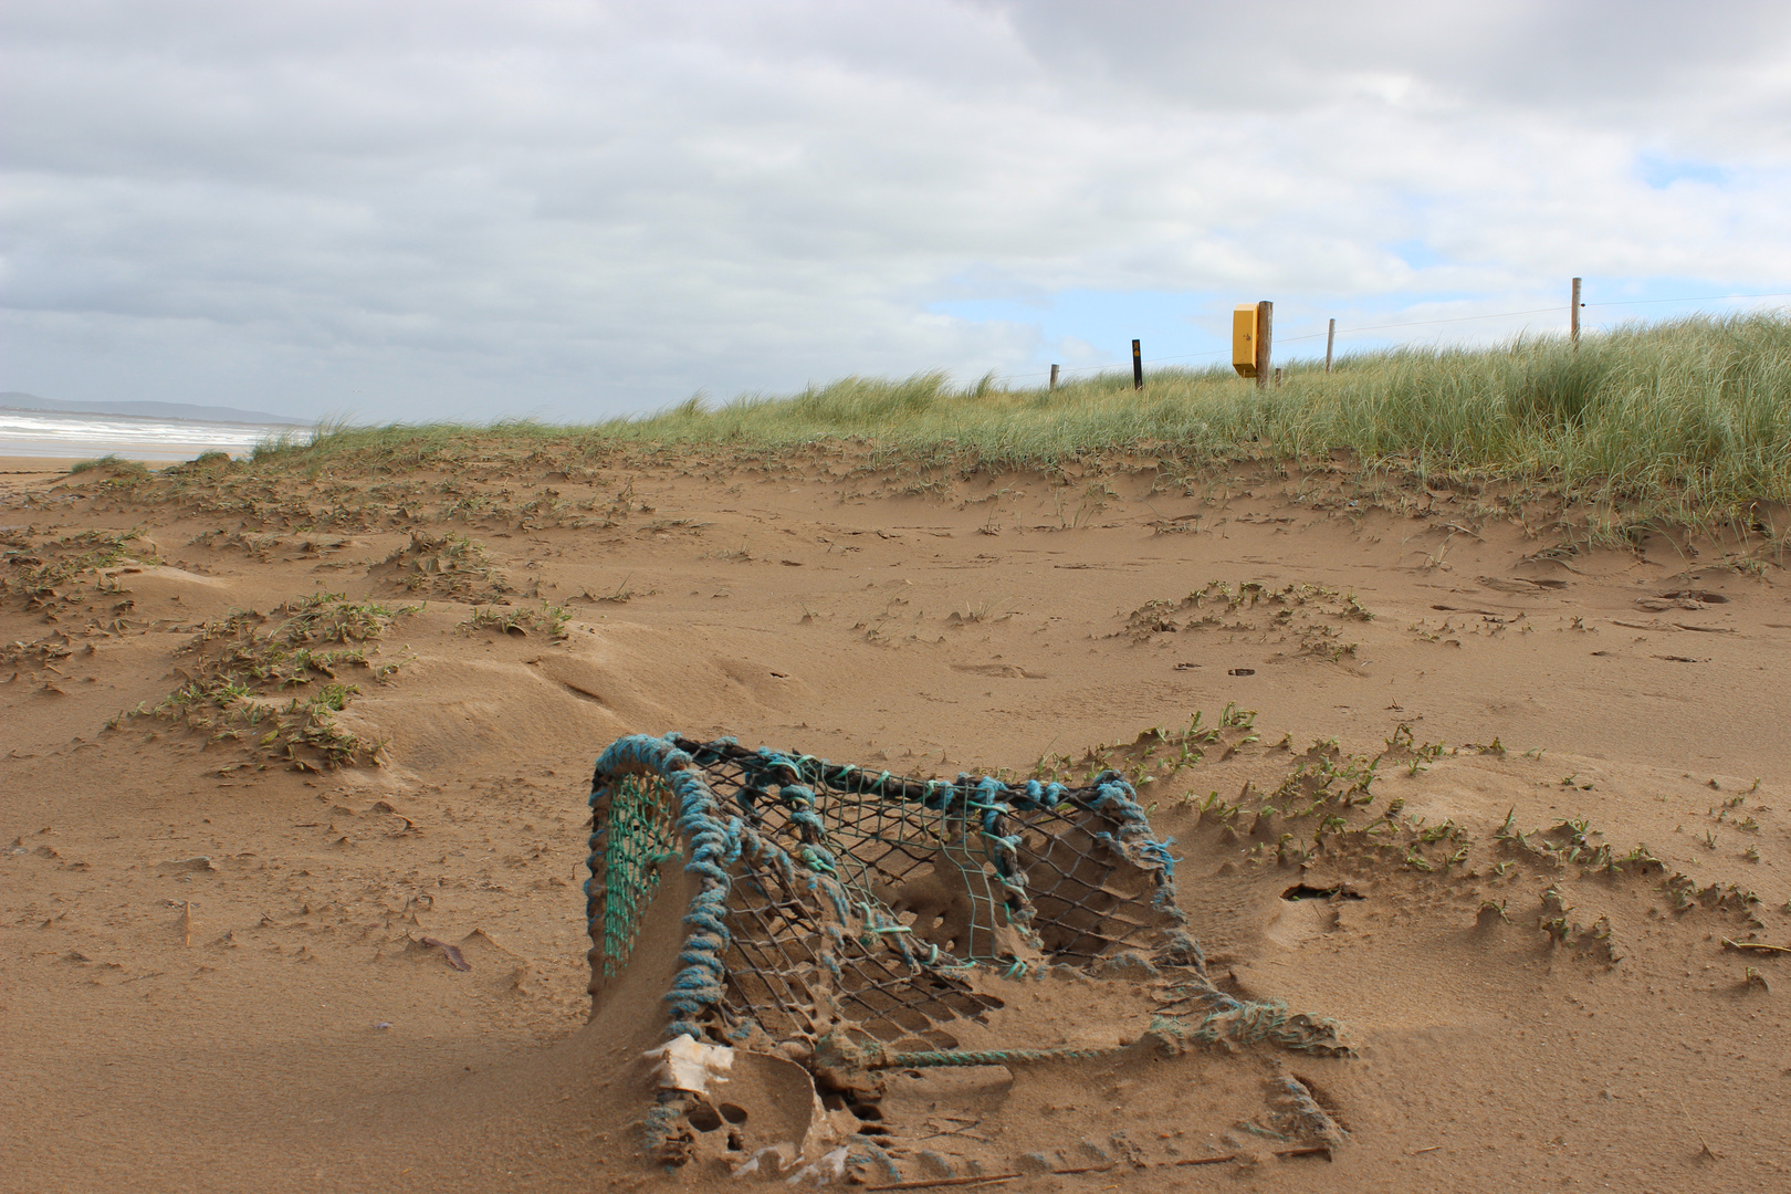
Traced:
<path id="1" fill-rule="evenodd" d="M 1333 1022 L 1213 985 L 1170 843 L 1116 772 L 1076 788 L 906 779 L 630 736 L 596 761 L 589 868 L 595 1010 L 641 977 L 643 934 L 681 934 L 675 963 L 654 954 L 668 1044 L 645 1146 L 666 1164 L 718 1139 L 738 1174 L 896 1181 L 876 1110 L 892 1072 L 1198 1044 L 1347 1053 Z M 1001 1038 L 1003 992 L 1066 968 L 1148 977 L 1159 1013 L 1121 1044 Z M 1340 1140 L 1302 1094 L 1304 1139 Z"/>

